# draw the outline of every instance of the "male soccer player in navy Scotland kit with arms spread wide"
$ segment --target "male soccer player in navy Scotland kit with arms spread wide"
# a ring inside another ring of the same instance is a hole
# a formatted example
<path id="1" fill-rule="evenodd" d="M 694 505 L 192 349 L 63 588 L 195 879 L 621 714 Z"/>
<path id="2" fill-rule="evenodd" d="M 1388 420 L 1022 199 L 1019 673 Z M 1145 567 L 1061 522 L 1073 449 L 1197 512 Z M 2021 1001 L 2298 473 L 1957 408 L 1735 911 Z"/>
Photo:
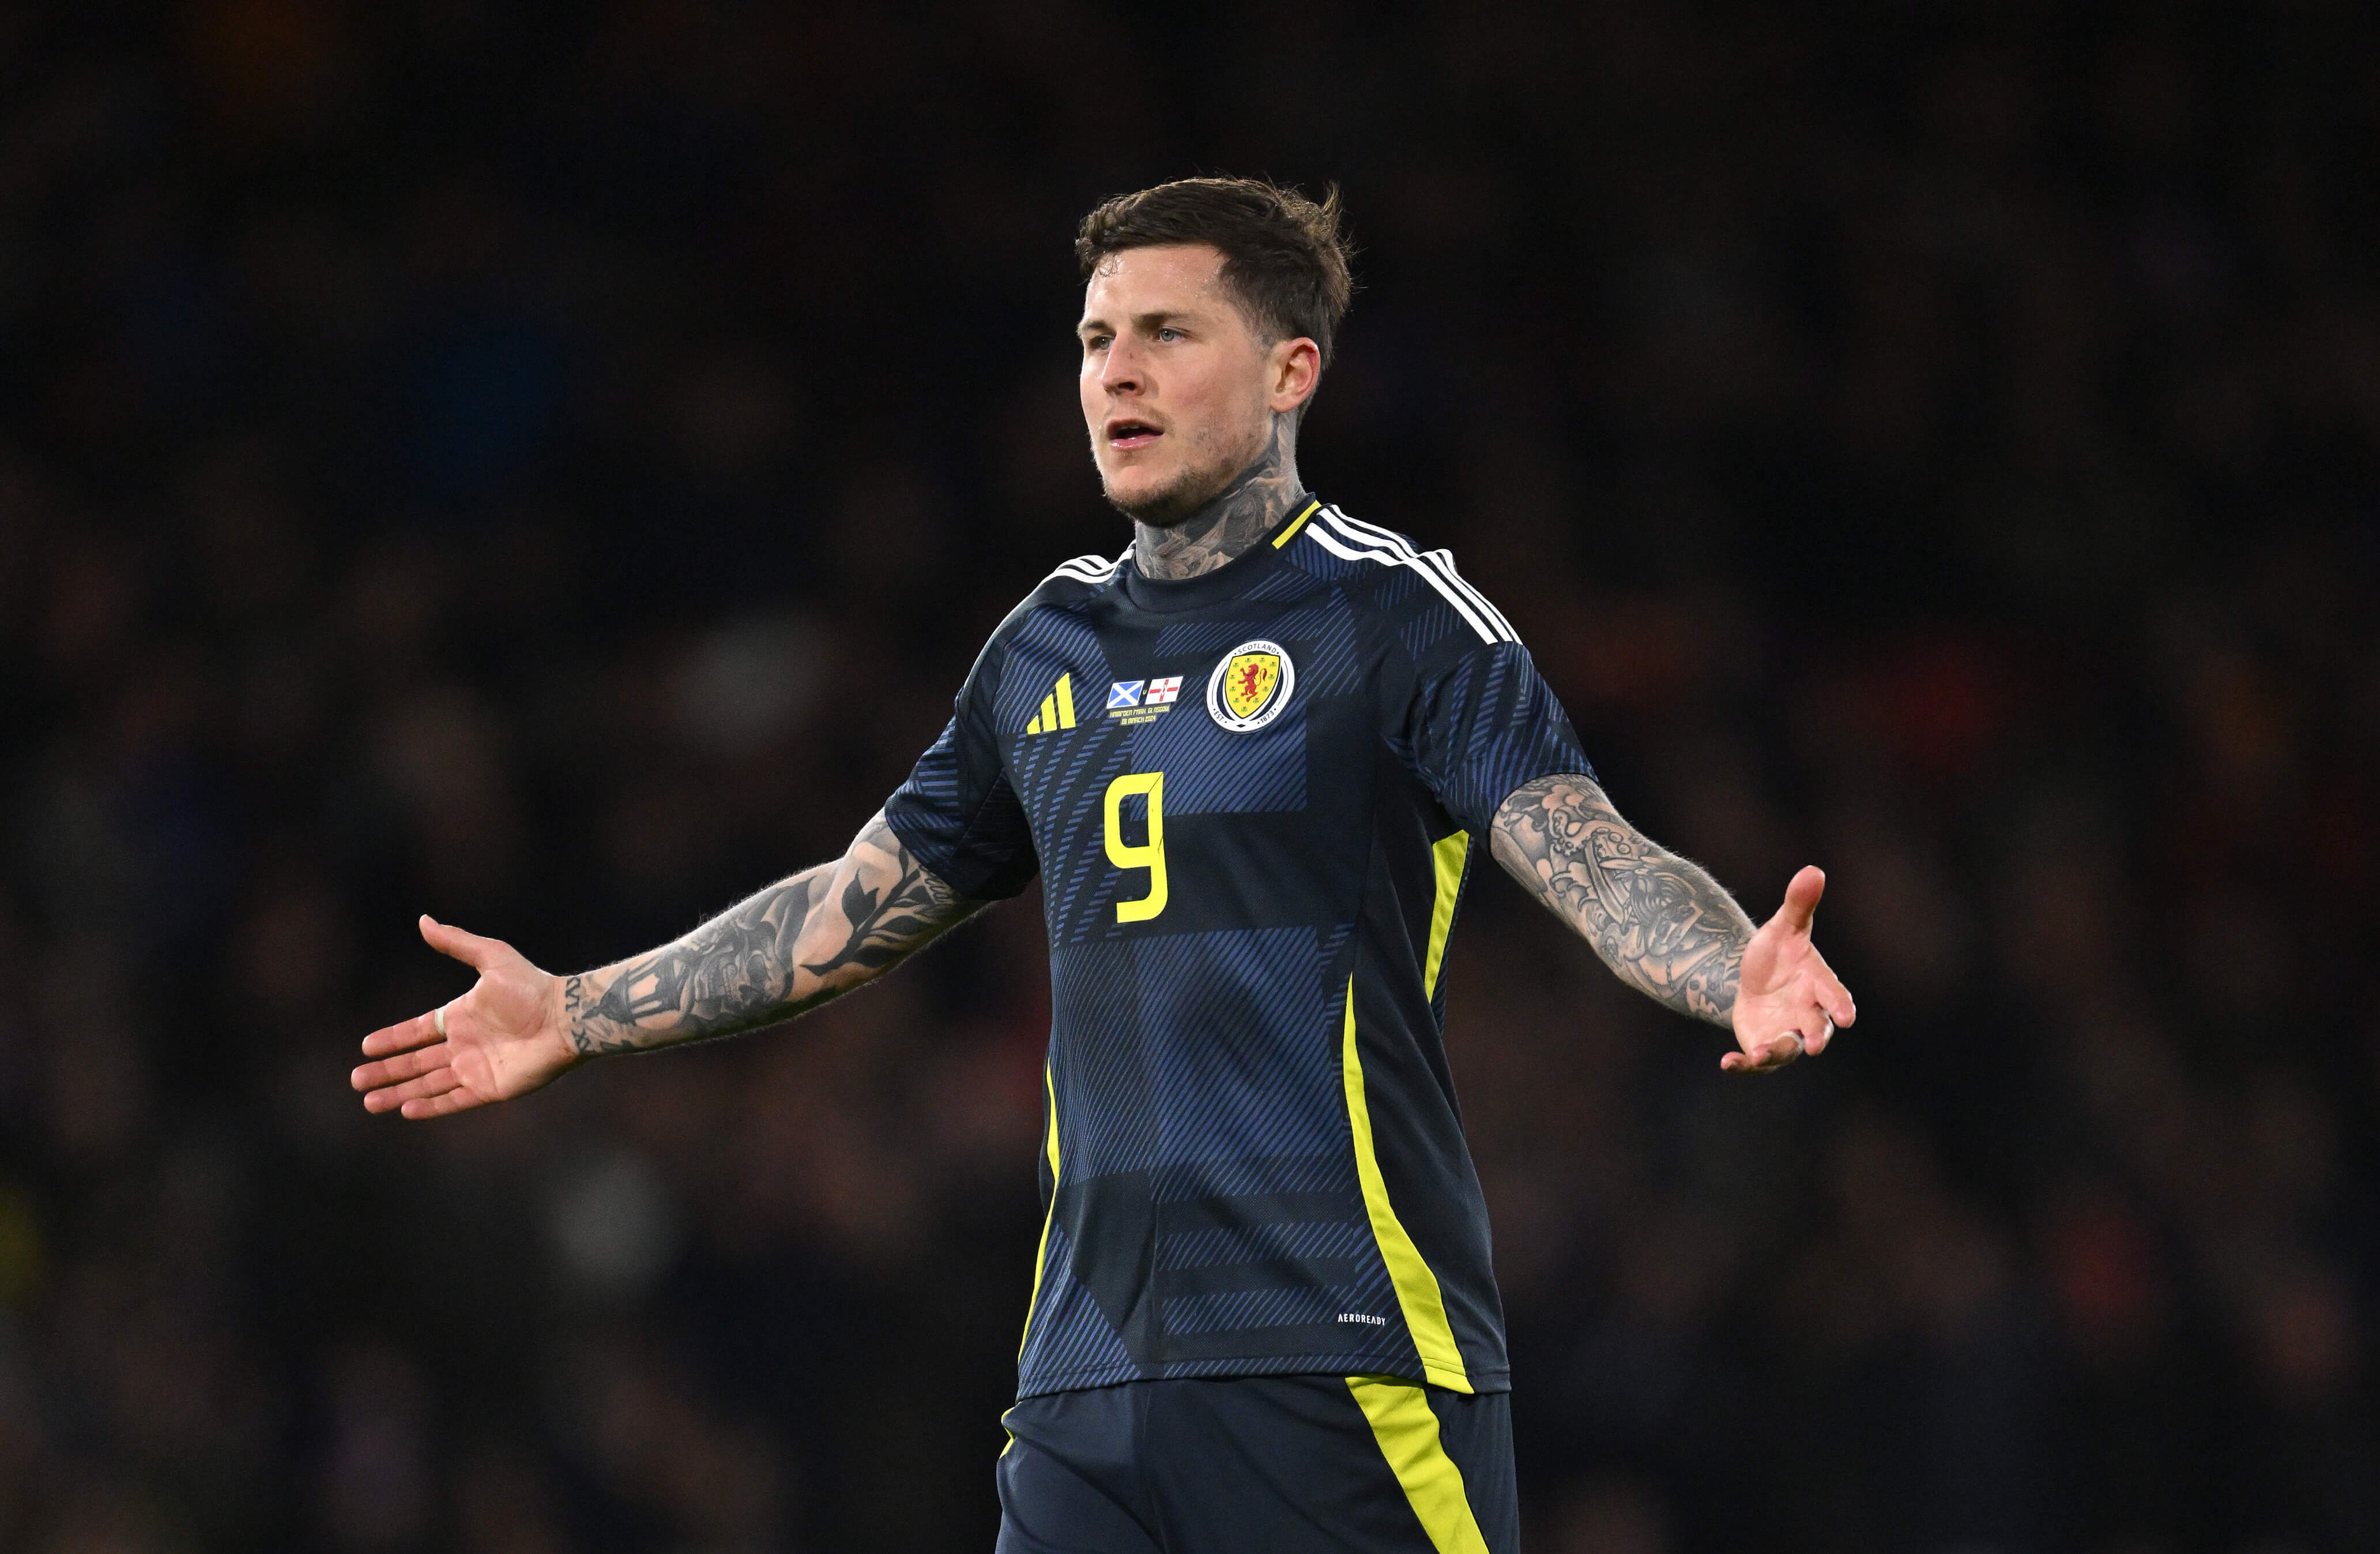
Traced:
<path id="1" fill-rule="evenodd" d="M 1038 873 L 1047 1218 L 1000 1549 L 1509 1552 L 1502 1311 L 1440 1042 L 1476 842 L 1630 985 L 1730 1026 L 1730 1073 L 1852 1023 L 1809 938 L 1825 878 L 1754 930 L 1618 816 L 1447 552 L 1307 493 L 1297 421 L 1349 297 L 1335 195 L 1164 183 L 1076 255 L 1130 550 L 1000 624 L 840 859 L 578 976 L 424 916 L 478 983 L 371 1033 L 355 1088 L 447 1116 L 769 1026 Z"/>

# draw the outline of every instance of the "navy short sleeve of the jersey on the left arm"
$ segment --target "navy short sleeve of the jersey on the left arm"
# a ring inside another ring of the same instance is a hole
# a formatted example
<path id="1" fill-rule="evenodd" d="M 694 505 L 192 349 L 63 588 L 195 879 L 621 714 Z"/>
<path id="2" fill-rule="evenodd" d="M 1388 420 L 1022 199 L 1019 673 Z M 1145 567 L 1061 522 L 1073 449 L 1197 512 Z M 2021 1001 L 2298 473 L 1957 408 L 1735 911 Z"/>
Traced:
<path id="1" fill-rule="evenodd" d="M 916 861 L 976 902 L 1007 900 L 1040 871 L 1033 828 L 1000 764 L 992 721 L 1000 657 L 1000 638 L 992 638 L 969 671 L 942 738 L 885 800 L 885 823 Z"/>

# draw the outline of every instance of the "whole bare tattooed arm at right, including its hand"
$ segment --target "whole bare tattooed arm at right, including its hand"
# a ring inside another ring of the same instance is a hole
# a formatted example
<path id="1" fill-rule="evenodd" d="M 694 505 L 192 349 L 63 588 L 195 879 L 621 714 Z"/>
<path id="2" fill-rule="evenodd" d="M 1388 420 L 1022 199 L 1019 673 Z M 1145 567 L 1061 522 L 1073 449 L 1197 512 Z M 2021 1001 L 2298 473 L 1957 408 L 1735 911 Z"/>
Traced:
<path id="1" fill-rule="evenodd" d="M 1495 816 L 1495 859 L 1595 945 L 1614 973 L 1678 1014 L 1730 1026 L 1721 1069 L 1780 1069 L 1825 1049 L 1856 1019 L 1811 945 L 1825 876 L 1804 869 L 1785 904 L 1752 926 L 1718 881 L 1621 819 L 1585 776 L 1523 783 Z"/>

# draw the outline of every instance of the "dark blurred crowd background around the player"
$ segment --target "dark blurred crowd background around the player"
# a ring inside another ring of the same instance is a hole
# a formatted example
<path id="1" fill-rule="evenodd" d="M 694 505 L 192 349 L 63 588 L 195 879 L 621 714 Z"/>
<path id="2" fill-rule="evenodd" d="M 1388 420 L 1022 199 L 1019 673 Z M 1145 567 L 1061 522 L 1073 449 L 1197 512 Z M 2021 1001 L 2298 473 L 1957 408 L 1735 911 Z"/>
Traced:
<path id="1" fill-rule="evenodd" d="M 2380 31 L 2052 7 L 0 7 L 0 1547 L 988 1549 L 1033 897 L 795 1030 L 357 1038 L 838 852 L 1116 552 L 1073 221 L 1340 181 L 1316 490 L 1861 1023 L 1483 876 L 1540 1554 L 2380 1547 Z"/>

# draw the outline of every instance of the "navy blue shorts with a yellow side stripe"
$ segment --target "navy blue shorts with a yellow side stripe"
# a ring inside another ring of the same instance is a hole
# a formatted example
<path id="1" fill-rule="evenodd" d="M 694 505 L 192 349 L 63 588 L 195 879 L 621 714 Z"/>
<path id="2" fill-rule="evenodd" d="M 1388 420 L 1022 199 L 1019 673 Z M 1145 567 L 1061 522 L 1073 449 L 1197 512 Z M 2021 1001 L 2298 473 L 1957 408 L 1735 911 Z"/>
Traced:
<path id="1" fill-rule="evenodd" d="M 1511 1395 L 1135 1380 L 1002 1416 L 997 1554 L 1518 1554 Z"/>

